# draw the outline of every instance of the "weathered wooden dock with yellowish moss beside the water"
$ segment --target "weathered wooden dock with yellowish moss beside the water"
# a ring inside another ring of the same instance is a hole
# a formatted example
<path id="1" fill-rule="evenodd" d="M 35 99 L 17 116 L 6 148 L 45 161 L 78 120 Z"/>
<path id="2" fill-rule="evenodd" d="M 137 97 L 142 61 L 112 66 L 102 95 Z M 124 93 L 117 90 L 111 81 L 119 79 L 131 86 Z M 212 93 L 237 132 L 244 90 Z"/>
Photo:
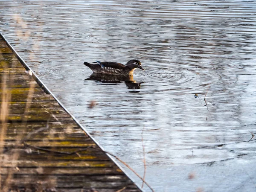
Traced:
<path id="1" fill-rule="evenodd" d="M 1 192 L 141 192 L 2 35 L 0 80 Z"/>

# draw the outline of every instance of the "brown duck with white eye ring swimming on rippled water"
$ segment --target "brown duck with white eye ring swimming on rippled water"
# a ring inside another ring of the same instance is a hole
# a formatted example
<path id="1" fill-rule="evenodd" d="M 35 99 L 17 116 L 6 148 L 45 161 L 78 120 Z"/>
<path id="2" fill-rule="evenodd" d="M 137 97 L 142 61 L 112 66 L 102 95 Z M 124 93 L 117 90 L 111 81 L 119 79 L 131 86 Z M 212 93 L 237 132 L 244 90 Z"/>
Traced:
<path id="1" fill-rule="evenodd" d="M 93 73 L 102 73 L 108 75 L 132 76 L 135 69 L 140 68 L 141 70 L 144 70 L 141 67 L 140 61 L 135 59 L 128 61 L 125 65 L 107 61 L 96 61 L 94 63 L 97 64 L 84 62 L 84 65 L 89 67 Z"/>

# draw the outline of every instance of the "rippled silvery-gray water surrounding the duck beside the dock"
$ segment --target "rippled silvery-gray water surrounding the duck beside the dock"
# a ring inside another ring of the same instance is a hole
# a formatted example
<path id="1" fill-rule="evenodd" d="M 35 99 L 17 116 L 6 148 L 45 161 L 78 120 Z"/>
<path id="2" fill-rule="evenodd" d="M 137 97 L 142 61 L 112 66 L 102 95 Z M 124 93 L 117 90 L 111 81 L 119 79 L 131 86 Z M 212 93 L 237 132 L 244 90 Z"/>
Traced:
<path id="1" fill-rule="evenodd" d="M 21 57 L 140 175 L 143 135 L 146 180 L 156 192 L 256 191 L 255 140 L 248 142 L 256 133 L 256 1 L 0 0 L 0 7 L 0 30 Z M 83 64 L 130 59 L 145 71 L 128 80 L 92 77 Z"/>

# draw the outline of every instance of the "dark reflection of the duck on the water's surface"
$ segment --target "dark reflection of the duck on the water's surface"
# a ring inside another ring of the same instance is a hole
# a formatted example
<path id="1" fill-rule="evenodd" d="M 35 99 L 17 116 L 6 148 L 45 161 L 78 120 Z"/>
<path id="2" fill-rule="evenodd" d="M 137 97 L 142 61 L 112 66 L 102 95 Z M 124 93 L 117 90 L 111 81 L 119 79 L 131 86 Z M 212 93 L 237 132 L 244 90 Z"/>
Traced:
<path id="1" fill-rule="evenodd" d="M 128 89 L 140 89 L 140 84 L 144 82 L 137 83 L 133 76 L 112 76 L 106 74 L 93 73 L 89 78 L 84 79 L 84 81 L 99 81 L 102 83 L 120 84 L 125 82 Z"/>

